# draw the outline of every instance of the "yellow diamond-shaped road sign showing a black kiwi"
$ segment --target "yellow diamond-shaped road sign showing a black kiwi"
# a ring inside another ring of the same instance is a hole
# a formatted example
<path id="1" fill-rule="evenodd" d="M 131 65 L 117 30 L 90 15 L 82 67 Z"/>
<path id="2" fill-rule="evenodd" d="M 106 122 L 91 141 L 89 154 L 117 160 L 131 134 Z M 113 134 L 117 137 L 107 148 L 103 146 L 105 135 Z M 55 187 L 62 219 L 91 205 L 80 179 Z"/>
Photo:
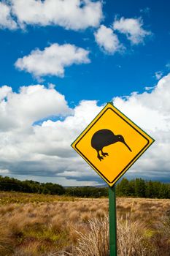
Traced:
<path id="1" fill-rule="evenodd" d="M 153 142 L 146 132 L 108 103 L 72 147 L 112 187 Z"/>

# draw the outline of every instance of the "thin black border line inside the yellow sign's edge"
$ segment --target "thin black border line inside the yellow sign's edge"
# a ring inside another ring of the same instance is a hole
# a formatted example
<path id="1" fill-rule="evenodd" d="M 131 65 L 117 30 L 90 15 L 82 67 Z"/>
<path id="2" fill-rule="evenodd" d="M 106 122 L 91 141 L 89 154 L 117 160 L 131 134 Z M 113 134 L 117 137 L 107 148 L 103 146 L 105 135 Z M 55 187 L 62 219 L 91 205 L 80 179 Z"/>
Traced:
<path id="1" fill-rule="evenodd" d="M 112 110 L 115 114 L 117 114 L 117 116 L 119 116 L 120 118 L 122 118 L 127 124 L 129 124 L 128 123 L 128 121 L 126 121 L 125 120 L 125 118 L 123 118 L 123 116 L 120 116 L 115 110 L 113 110 L 112 108 L 107 108 L 106 110 L 104 110 L 104 113 L 106 113 L 107 112 L 107 110 Z M 104 113 L 102 113 L 101 114 L 101 116 L 103 116 L 104 115 Z M 82 138 L 88 133 L 88 131 L 93 127 L 93 125 L 94 124 L 96 124 L 96 122 L 101 118 L 101 116 L 99 116 L 98 118 L 97 118 L 97 120 L 90 126 L 90 128 L 85 132 L 85 134 L 84 135 L 82 135 L 82 137 L 80 138 L 80 140 L 82 140 Z M 136 132 L 138 132 L 140 135 L 142 135 L 142 133 L 141 132 L 139 132 L 135 127 L 133 127 L 133 125 L 131 125 L 131 124 L 129 124 L 133 129 L 135 129 L 136 130 Z M 147 147 L 147 145 L 148 144 L 150 144 L 150 140 L 148 140 L 144 135 L 142 135 L 142 137 L 143 138 L 145 138 L 146 140 L 147 140 L 147 144 L 144 146 L 144 148 L 146 148 Z M 100 175 L 102 176 L 102 177 L 104 177 L 109 183 L 113 183 L 119 176 L 121 176 L 121 174 L 123 173 L 123 171 L 126 169 L 126 168 L 128 168 L 128 166 L 129 165 L 131 165 L 131 163 L 132 162 L 134 162 L 134 160 L 136 159 L 136 157 L 138 157 L 139 156 L 139 154 L 141 154 L 142 153 L 142 151 L 144 151 L 144 148 L 142 148 L 142 150 L 141 151 L 139 151 L 139 153 L 138 154 L 136 154 L 136 156 L 134 157 L 134 159 L 132 159 L 131 160 L 131 162 L 129 162 L 128 163 L 128 165 L 126 165 L 125 166 L 125 168 L 116 176 L 116 178 L 114 178 L 114 180 L 113 181 L 109 181 L 104 175 L 103 175 L 103 173 L 101 173 L 100 172 L 100 170 L 98 170 L 98 168 L 96 168 L 95 167 L 95 165 L 93 165 L 93 163 L 92 162 L 90 162 L 90 160 L 87 158 L 87 157 L 85 157 L 85 155 L 84 154 L 82 154 L 82 152 L 77 148 L 77 144 L 80 142 L 80 140 L 78 140 L 77 141 L 77 143 L 75 143 L 75 148 L 77 149 L 77 151 L 79 151 L 80 152 L 80 154 L 87 160 L 87 162 L 89 162 L 90 163 L 90 165 L 92 165 L 93 166 L 93 168 L 95 169 L 95 170 L 97 170 L 98 171 L 98 173 L 100 173 Z"/>

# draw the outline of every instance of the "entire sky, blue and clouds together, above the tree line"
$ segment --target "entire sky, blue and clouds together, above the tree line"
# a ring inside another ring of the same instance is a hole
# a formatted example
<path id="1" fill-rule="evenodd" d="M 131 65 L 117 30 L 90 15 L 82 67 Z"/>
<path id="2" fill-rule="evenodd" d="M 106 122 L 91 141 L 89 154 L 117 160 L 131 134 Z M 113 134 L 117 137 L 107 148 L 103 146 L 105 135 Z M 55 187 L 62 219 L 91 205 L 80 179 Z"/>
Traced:
<path id="1" fill-rule="evenodd" d="M 158 138 L 128 176 L 169 181 L 169 157 L 157 153 L 169 133 L 169 1 L 24 4 L 0 1 L 0 174 L 66 185 L 101 183 L 68 147 L 113 100 Z"/>

